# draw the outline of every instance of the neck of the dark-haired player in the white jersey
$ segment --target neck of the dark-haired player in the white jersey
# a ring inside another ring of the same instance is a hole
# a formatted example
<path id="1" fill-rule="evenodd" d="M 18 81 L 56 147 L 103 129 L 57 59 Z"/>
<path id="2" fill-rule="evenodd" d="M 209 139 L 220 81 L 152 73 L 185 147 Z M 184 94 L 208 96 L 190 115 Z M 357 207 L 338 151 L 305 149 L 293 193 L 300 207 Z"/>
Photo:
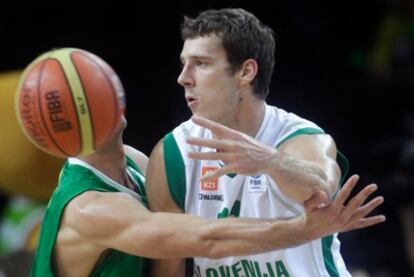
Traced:
<path id="1" fill-rule="evenodd" d="M 262 125 L 265 111 L 265 101 L 255 97 L 252 99 L 242 98 L 236 113 L 222 124 L 255 137 Z"/>

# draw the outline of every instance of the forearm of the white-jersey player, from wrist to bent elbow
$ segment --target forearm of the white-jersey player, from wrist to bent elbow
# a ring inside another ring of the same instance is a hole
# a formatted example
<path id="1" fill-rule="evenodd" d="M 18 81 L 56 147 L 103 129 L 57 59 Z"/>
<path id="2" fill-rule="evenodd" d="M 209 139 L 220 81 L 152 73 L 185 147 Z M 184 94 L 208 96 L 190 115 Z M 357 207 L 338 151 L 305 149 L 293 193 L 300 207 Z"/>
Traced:
<path id="1" fill-rule="evenodd" d="M 303 203 L 317 190 L 332 195 L 329 178 L 315 162 L 297 159 L 283 152 L 275 152 L 264 173 L 278 184 L 288 197 Z"/>

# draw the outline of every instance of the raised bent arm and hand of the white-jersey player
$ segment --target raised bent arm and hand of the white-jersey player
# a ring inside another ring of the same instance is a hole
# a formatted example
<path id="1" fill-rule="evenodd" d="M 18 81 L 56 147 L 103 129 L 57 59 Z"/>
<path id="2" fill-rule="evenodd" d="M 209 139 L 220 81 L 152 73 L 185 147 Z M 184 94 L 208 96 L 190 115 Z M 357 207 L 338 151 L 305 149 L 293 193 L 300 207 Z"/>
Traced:
<path id="1" fill-rule="evenodd" d="M 192 152 L 189 157 L 225 163 L 224 167 L 206 174 L 202 181 L 228 173 L 264 173 L 299 203 L 316 191 L 322 190 L 331 196 L 336 189 L 341 172 L 336 163 L 335 143 L 328 135 L 301 135 L 275 149 L 219 123 L 201 117 L 193 117 L 193 121 L 210 129 L 215 138 L 189 138 L 187 142 L 219 151 Z"/>

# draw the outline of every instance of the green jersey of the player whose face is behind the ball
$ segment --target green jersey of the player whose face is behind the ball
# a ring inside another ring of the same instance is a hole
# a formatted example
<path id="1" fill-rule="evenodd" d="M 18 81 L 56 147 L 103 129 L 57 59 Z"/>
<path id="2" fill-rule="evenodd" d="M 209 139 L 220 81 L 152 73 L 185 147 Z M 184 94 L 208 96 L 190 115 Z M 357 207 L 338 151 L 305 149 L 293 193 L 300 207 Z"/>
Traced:
<path id="1" fill-rule="evenodd" d="M 144 176 L 138 166 L 127 157 L 127 172 L 135 181 L 135 192 L 111 180 L 85 162 L 69 158 L 60 173 L 58 187 L 49 201 L 40 233 L 31 276 L 55 276 L 52 267 L 53 248 L 59 232 L 60 220 L 66 205 L 85 191 L 126 192 L 147 207 Z M 90 276 L 144 276 L 146 259 L 117 250 L 105 257 Z"/>

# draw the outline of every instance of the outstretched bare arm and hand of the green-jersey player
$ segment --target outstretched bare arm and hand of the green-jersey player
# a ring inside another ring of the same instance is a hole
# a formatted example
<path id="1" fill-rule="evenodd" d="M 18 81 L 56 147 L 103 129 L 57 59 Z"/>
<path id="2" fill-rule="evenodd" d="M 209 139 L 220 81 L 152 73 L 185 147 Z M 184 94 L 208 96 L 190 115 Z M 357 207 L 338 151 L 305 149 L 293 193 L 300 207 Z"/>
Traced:
<path id="1" fill-rule="evenodd" d="M 150 258 L 251 255 L 292 247 L 334 232 L 363 228 L 384 221 L 366 217 L 383 201 L 369 185 L 346 206 L 358 178 L 351 177 L 330 205 L 320 207 L 324 194 L 305 202 L 306 214 L 292 219 L 225 218 L 206 220 L 187 214 L 152 213 L 124 193 L 88 191 L 65 210 L 65 226 L 81 241 L 97 248 L 113 248 Z"/>

